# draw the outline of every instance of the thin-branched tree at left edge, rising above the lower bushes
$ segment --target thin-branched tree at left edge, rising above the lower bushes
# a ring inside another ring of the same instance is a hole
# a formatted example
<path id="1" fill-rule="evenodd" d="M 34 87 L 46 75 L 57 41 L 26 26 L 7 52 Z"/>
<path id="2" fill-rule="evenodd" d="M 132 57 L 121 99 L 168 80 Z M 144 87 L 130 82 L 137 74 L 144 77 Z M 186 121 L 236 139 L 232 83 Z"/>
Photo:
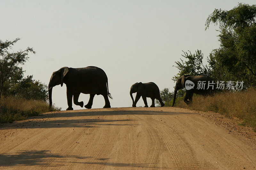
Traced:
<path id="1" fill-rule="evenodd" d="M 19 40 L 19 38 L 13 41 L 6 40 L 5 42 L 0 40 L 0 98 L 4 83 L 10 79 L 12 73 L 16 72 L 15 69 L 18 68 L 18 64 L 24 64 L 28 60 L 28 52 L 36 53 L 30 47 L 17 52 L 10 51 L 12 46 Z"/>

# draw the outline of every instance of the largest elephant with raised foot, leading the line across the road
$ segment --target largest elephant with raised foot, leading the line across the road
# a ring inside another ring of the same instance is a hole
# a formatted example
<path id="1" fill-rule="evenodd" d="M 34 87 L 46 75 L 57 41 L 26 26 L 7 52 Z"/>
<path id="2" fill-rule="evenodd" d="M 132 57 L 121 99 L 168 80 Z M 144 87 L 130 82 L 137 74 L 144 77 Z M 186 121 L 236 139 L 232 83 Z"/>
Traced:
<path id="1" fill-rule="evenodd" d="M 106 73 L 94 66 L 85 68 L 68 68 L 62 67 L 58 71 L 52 73 L 50 82 L 48 85 L 49 91 L 49 107 L 52 107 L 52 87 L 55 85 L 67 86 L 67 100 L 68 108 L 66 110 L 73 110 L 72 97 L 75 105 L 83 107 L 84 102 L 78 102 L 80 93 L 90 94 L 90 99 L 85 105 L 85 108 L 92 108 L 92 101 L 95 96 L 102 95 L 105 99 L 105 106 L 103 108 L 110 107 L 108 96 L 112 99 L 111 94 L 108 92 L 108 77 Z"/>

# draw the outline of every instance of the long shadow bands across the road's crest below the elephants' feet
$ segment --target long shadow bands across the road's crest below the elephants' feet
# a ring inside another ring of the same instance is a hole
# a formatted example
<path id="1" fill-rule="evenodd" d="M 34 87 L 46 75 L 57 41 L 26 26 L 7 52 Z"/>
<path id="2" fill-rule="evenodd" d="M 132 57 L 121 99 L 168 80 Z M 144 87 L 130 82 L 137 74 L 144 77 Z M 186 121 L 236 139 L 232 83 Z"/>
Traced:
<path id="1" fill-rule="evenodd" d="M 165 112 L 154 110 L 113 110 L 104 109 L 104 111 L 97 111 L 94 109 L 75 110 L 75 111 L 61 111 L 46 113 L 35 117 L 30 117 L 30 120 L 24 122 L 13 122 L 5 124 L 3 129 L 17 129 L 17 128 L 68 128 L 68 127 L 82 127 L 95 128 L 103 126 L 132 126 L 129 121 L 140 121 L 132 119 L 107 119 L 108 115 L 180 115 L 191 113 L 179 112 Z M 94 116 L 91 119 L 84 119 L 87 116 Z M 98 116 L 105 116 L 106 119 L 99 119 Z M 56 119 L 55 119 L 56 118 Z M 61 119 L 62 118 L 62 119 Z M 106 123 L 107 122 L 107 123 Z M 117 123 L 118 122 L 118 123 Z M 139 123 L 139 122 L 138 122 Z M 137 124 L 137 123 L 136 123 Z"/>

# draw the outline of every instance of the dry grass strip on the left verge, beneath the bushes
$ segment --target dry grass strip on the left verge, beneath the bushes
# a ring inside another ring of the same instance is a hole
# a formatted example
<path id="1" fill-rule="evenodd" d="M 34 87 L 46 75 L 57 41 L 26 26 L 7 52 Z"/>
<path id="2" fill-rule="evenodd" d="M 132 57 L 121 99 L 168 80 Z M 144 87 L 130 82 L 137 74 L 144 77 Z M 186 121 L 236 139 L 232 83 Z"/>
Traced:
<path id="1" fill-rule="evenodd" d="M 0 99 L 0 123 L 24 120 L 28 116 L 36 116 L 41 113 L 61 110 L 52 107 L 45 101 L 24 100 L 16 97 L 2 97 Z"/>

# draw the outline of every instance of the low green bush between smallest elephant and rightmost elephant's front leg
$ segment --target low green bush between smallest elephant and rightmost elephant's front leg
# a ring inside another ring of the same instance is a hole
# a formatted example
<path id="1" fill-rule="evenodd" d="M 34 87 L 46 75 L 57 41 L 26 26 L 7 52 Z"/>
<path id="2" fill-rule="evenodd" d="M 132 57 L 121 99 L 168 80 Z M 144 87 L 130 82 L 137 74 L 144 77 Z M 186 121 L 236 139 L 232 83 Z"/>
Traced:
<path id="1" fill-rule="evenodd" d="M 160 96 L 164 102 L 165 107 L 171 107 L 173 103 L 174 92 L 170 92 L 169 90 L 170 90 L 169 88 L 164 88 L 163 90 L 160 91 Z M 179 90 L 176 95 L 176 101 L 183 100 L 183 97 L 185 96 L 185 92 L 186 91 L 184 89 Z M 158 100 L 156 100 L 156 105 L 157 107 L 161 106 Z"/>

